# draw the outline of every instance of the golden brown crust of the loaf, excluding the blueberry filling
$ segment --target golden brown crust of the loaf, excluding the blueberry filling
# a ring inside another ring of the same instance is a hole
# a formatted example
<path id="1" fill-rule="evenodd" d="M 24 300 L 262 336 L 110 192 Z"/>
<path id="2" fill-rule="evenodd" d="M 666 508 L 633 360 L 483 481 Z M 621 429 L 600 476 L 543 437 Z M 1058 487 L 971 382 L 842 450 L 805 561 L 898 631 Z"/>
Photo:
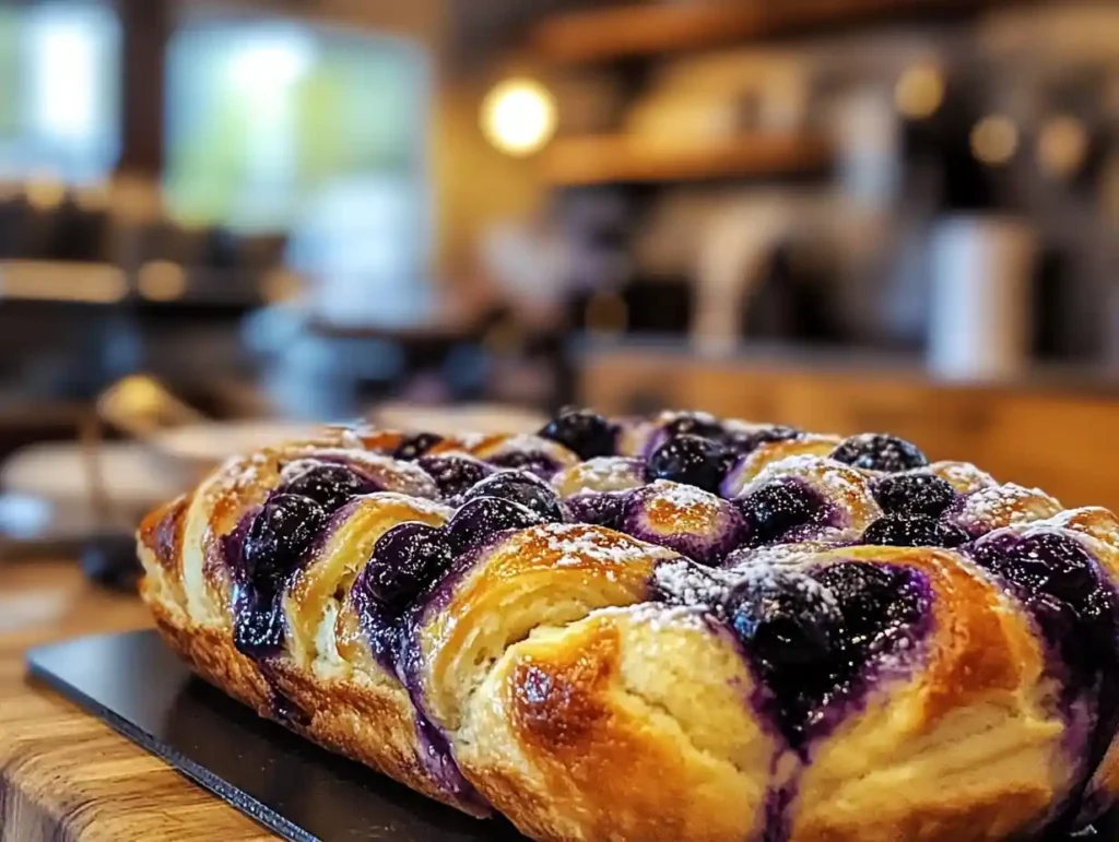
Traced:
<path id="1" fill-rule="evenodd" d="M 623 429 L 623 450 L 643 448 L 655 435 L 656 425 Z M 452 514 L 425 499 L 435 496 L 430 477 L 377 455 L 402 441 L 327 431 L 232 460 L 145 518 L 142 595 L 168 645 L 261 716 L 469 811 L 425 763 L 417 721 L 426 718 L 446 736 L 466 779 L 543 842 L 756 842 L 772 825 L 767 811 L 779 789 L 791 842 L 995 842 L 1044 820 L 1070 791 L 1076 765 L 1037 630 L 1022 605 L 948 550 L 837 548 L 833 537 L 756 554 L 767 565 L 912 567 L 931 588 L 928 634 L 812 745 L 810 763 L 782 747 L 768 723 L 725 624 L 647 602 L 653 570 L 676 554 L 602 527 L 497 536 L 425 597 L 410 632 L 414 661 L 395 669 L 378 661 L 358 612 L 367 592 L 352 593 L 359 570 L 393 526 L 441 526 Z M 882 515 L 872 493 L 880 474 L 826 458 L 838 442 L 764 443 L 740 465 L 740 491 L 797 476 L 845 515 L 844 534 L 857 537 Z M 432 452 L 491 458 L 518 448 L 575 464 L 565 448 L 532 436 L 460 436 Z M 283 651 L 257 663 L 233 643 L 227 543 L 302 470 L 291 463 L 305 458 L 361 465 L 406 495 L 364 495 L 336 512 L 283 595 Z M 561 475 L 587 488 L 633 484 L 581 470 Z M 997 485 L 961 463 L 929 470 L 968 495 L 953 517 L 969 529 L 1071 530 L 1119 574 L 1119 520 L 1110 512 L 1061 512 L 1042 492 Z M 660 531 L 714 528 L 713 511 L 653 502 L 649 518 Z M 1113 750 L 1093 786 L 1119 791 L 1117 769 Z"/>

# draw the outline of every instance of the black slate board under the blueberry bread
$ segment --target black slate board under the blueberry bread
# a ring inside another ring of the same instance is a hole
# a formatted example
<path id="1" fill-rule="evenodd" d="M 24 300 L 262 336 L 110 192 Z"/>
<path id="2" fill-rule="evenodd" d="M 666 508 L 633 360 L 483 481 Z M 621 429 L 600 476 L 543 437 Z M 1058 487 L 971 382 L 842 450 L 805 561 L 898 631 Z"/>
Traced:
<path id="1" fill-rule="evenodd" d="M 194 678 L 156 632 L 32 650 L 31 677 L 293 842 L 524 841 L 332 755 Z"/>

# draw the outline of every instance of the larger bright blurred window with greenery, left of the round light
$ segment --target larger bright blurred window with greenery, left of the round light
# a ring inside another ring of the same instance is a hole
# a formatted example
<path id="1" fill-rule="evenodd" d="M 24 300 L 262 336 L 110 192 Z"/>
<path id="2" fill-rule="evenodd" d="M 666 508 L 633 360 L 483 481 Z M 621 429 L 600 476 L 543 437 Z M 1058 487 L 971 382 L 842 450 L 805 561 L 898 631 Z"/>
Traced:
<path id="1" fill-rule="evenodd" d="M 427 60 L 395 39 L 278 20 L 203 20 L 168 72 L 169 209 L 189 225 L 289 230 L 370 179 L 426 182 Z"/>

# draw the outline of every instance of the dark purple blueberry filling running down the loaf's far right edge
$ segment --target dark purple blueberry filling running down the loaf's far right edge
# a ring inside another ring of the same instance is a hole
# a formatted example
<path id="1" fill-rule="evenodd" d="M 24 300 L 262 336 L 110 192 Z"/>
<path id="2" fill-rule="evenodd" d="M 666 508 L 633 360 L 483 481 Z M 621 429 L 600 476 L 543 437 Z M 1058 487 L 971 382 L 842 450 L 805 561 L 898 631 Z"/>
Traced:
<path id="1" fill-rule="evenodd" d="M 1087 547 L 1072 533 L 1000 529 L 970 547 L 971 558 L 995 574 L 1023 603 L 1046 644 L 1049 671 L 1061 681 L 1060 704 L 1074 723 L 1087 713 L 1080 783 L 1054 822 L 1073 829 L 1088 784 L 1119 727 L 1119 596 Z"/>

